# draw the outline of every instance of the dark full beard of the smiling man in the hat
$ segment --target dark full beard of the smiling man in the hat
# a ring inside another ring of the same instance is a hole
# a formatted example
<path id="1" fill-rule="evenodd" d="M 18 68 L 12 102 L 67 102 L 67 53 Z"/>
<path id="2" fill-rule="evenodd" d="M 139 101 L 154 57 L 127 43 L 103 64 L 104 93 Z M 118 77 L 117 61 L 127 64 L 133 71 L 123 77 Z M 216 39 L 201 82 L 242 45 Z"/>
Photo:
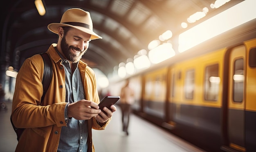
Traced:
<path id="1" fill-rule="evenodd" d="M 63 39 L 61 40 L 61 50 L 65 57 L 70 60 L 72 63 L 79 62 L 79 60 L 82 58 L 83 54 L 87 51 L 83 49 L 83 51 L 80 50 L 80 48 L 75 46 L 69 46 L 66 42 L 66 37 L 64 35 Z M 76 55 L 75 53 L 72 53 L 73 50 L 79 51 L 79 55 Z"/>

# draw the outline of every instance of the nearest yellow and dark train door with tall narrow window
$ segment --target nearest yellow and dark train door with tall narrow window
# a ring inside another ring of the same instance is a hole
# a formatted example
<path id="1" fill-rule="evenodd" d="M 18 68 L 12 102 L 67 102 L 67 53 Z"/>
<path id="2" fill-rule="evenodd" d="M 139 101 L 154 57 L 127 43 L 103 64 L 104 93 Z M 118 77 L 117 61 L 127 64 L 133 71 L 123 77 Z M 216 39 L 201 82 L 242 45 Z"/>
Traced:
<path id="1" fill-rule="evenodd" d="M 245 152 L 246 48 L 231 48 L 228 72 L 227 137 L 229 148 Z"/>

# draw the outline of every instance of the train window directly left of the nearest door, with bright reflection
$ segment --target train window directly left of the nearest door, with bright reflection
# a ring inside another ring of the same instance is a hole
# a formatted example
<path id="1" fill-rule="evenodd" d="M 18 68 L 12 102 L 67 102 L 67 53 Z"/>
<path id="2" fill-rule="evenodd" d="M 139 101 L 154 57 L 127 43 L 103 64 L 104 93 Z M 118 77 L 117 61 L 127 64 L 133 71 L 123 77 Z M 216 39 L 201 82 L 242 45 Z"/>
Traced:
<path id="1" fill-rule="evenodd" d="M 219 64 L 207 66 L 205 69 L 204 79 L 204 99 L 218 100 L 220 87 Z"/>

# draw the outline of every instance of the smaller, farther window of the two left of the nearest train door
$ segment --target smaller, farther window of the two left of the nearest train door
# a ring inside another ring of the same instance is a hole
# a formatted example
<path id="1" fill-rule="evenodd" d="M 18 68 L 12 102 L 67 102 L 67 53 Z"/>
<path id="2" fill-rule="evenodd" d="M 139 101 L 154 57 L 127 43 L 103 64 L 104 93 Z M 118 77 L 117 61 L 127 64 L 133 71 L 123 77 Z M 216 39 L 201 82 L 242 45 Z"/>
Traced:
<path id="1" fill-rule="evenodd" d="M 186 71 L 184 88 L 185 88 L 186 99 L 193 99 L 193 94 L 195 90 L 195 70 Z"/>

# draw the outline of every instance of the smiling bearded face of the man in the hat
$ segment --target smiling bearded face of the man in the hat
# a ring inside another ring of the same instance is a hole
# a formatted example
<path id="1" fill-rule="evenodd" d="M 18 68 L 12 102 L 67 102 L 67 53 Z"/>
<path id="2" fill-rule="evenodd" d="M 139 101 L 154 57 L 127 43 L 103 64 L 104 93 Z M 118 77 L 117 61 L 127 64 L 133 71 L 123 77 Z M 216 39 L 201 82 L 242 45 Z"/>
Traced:
<path id="1" fill-rule="evenodd" d="M 78 62 L 88 49 L 90 37 L 90 34 L 74 28 L 65 32 L 61 40 L 61 50 L 65 57 L 72 63 Z"/>

